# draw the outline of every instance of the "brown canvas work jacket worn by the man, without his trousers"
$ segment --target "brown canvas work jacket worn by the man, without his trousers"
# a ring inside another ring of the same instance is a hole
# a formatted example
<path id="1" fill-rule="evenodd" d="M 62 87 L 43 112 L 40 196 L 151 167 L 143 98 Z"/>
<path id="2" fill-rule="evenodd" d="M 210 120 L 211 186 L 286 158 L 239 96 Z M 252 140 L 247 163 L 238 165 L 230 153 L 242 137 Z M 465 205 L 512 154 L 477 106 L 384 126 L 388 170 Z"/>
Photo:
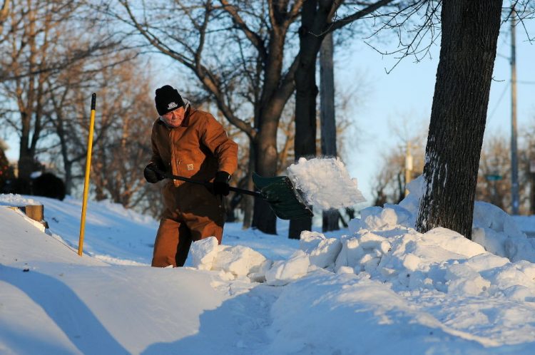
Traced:
<path id="1" fill-rule="evenodd" d="M 212 181 L 218 171 L 232 175 L 238 168 L 238 145 L 228 138 L 223 126 L 210 113 L 189 106 L 180 127 L 169 128 L 158 118 L 151 141 L 151 162 L 173 175 Z M 163 197 L 170 211 L 203 215 L 206 212 L 198 207 L 213 202 L 213 195 L 204 186 L 179 180 L 166 182 Z"/>

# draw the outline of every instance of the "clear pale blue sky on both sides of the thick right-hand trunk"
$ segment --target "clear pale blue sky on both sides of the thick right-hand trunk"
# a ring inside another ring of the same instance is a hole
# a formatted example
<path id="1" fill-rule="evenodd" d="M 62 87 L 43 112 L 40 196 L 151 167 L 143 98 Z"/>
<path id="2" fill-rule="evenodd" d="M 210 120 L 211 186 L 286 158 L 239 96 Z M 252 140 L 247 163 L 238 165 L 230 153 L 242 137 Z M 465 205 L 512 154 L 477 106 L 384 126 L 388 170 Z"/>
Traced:
<path id="1" fill-rule="evenodd" d="M 535 20 L 526 21 L 526 29 L 535 37 Z M 526 41 L 521 26 L 516 31 L 516 72 L 518 84 L 518 132 L 535 118 L 535 71 L 530 61 L 535 58 L 535 43 Z M 395 38 L 394 38 L 395 39 Z M 379 45 L 392 50 L 394 42 Z M 343 52 L 342 52 L 343 51 Z M 498 55 L 494 65 L 494 81 L 491 84 L 489 116 L 486 133 L 488 136 L 500 133 L 511 134 L 511 69 L 509 57 L 510 26 L 501 26 L 498 39 Z M 335 50 L 335 81 L 337 91 L 350 90 L 355 81 L 362 81 L 347 113 L 352 118 L 352 127 L 347 135 L 348 149 L 342 157 L 352 178 L 367 199 L 364 205 L 373 202 L 372 183 L 382 164 L 382 154 L 398 149 L 401 141 L 394 132 L 395 126 L 405 126 L 408 134 L 419 130 L 427 131 L 432 107 L 434 81 L 439 60 L 439 46 L 430 51 L 430 58 L 415 63 L 414 58 L 404 58 L 390 73 L 397 59 L 382 56 L 367 46 L 363 38 L 355 36 L 352 43 L 338 52 Z M 158 73 L 156 73 L 158 76 Z M 11 147 L 6 154 L 11 160 L 18 158 L 18 143 L 9 137 Z M 360 206 L 364 206 L 360 205 Z"/>

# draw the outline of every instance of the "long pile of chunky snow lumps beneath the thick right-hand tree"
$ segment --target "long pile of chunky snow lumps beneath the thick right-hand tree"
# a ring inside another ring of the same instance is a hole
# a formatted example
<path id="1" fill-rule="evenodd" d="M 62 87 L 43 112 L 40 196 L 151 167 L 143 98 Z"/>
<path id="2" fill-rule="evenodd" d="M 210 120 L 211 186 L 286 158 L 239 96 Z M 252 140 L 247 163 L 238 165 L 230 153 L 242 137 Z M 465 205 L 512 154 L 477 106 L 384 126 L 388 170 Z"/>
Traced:
<path id="1" fill-rule="evenodd" d="M 362 229 L 341 240 L 303 232 L 302 252 L 279 263 L 297 270 L 295 259 L 308 257 L 310 265 L 315 266 L 309 267 L 309 272 L 322 268 L 339 274 L 358 274 L 387 283 L 398 292 L 431 289 L 458 296 L 501 295 L 535 300 L 535 266 L 529 262 L 511 263 L 445 228 L 424 234 L 412 228 L 396 231 L 397 235 L 386 237 L 389 233 L 384 230 Z M 315 246 L 311 246 L 311 240 Z M 299 266 L 302 274 L 305 267 L 303 263 Z M 292 276 L 298 278 L 300 274 L 295 272 Z M 278 284 L 284 284 L 280 279 Z"/>

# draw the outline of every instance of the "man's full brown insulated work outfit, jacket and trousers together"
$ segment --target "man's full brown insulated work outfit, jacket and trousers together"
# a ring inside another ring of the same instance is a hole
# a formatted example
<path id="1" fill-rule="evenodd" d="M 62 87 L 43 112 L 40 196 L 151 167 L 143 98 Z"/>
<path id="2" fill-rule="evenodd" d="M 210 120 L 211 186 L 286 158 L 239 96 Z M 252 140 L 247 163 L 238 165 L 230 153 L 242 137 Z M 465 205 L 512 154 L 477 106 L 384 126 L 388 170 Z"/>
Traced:
<path id="1" fill-rule="evenodd" d="M 215 173 L 230 175 L 238 166 L 238 145 L 210 113 L 187 108 L 180 127 L 168 128 L 158 118 L 152 130 L 151 162 L 173 175 L 213 180 Z M 192 240 L 216 237 L 221 243 L 225 211 L 221 196 L 203 185 L 165 180 L 163 211 L 156 235 L 153 267 L 183 266 Z"/>

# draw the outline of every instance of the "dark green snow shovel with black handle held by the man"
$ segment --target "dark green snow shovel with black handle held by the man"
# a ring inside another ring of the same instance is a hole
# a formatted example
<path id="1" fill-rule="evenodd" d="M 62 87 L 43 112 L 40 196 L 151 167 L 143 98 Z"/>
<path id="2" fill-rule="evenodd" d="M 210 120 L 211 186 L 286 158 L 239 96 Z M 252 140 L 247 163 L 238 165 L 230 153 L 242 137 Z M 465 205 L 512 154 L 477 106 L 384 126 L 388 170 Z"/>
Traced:
<path id="1" fill-rule="evenodd" d="M 158 173 L 168 179 L 204 185 L 208 190 L 211 190 L 212 187 L 212 182 L 194 180 L 183 176 L 172 175 L 170 173 L 163 173 L 162 171 L 158 171 Z M 287 176 L 264 178 L 257 173 L 253 173 L 253 182 L 259 191 L 243 190 L 232 186 L 230 186 L 229 189 L 230 191 L 244 195 L 260 197 L 270 204 L 275 215 L 281 220 L 297 220 L 299 218 L 312 217 L 314 215 L 312 210 L 310 210 L 310 207 L 305 203 L 305 199 Z"/>

